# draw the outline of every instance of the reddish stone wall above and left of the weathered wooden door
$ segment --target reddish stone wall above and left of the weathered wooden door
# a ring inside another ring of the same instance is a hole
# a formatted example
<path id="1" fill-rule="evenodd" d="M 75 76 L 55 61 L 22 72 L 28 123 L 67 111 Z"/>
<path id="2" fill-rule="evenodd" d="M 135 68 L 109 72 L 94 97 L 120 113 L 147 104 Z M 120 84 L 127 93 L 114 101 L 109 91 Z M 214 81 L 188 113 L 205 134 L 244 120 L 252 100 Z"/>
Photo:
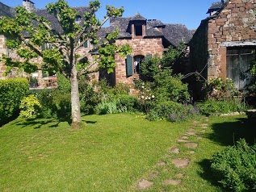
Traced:
<path id="1" fill-rule="evenodd" d="M 255 0 L 231 0 L 218 17 L 208 20 L 208 50 L 212 55 L 208 78 L 226 77 L 226 47 L 256 45 L 254 10 Z"/>

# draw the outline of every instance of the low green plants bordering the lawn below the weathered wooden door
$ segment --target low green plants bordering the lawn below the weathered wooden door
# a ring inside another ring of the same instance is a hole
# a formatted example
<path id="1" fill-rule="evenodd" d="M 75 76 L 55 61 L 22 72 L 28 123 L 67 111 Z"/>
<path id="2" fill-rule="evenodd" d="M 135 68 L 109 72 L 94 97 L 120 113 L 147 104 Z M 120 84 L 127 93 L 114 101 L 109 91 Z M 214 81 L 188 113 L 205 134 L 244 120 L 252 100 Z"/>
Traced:
<path id="1" fill-rule="evenodd" d="M 248 108 L 245 102 L 241 102 L 237 98 L 229 100 L 208 99 L 196 105 L 199 107 L 199 111 L 204 115 L 227 114 L 236 111 L 241 112 L 246 111 Z"/>

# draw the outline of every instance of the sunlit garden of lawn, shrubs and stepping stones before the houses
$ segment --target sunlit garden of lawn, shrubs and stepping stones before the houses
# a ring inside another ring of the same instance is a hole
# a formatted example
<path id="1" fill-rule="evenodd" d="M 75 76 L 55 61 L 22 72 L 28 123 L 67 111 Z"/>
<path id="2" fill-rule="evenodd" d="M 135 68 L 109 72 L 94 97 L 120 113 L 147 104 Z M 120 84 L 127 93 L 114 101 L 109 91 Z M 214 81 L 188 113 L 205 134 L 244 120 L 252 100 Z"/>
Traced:
<path id="1" fill-rule="evenodd" d="M 191 101 L 172 70 L 181 50 L 148 58 L 132 87 L 80 77 L 78 130 L 61 74 L 56 89 L 36 93 L 25 78 L 0 81 L 0 190 L 256 190 L 256 130 L 245 113 L 255 106 L 221 78 Z"/>

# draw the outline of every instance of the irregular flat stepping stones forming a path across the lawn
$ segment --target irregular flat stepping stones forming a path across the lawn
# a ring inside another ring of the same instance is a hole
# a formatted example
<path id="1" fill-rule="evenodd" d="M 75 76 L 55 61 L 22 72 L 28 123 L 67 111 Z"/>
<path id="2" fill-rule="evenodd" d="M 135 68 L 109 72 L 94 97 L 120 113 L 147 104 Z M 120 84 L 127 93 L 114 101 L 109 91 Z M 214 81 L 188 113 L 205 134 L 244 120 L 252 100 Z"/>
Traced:
<path id="1" fill-rule="evenodd" d="M 177 143 L 178 144 L 184 144 L 186 148 L 198 148 L 199 147 L 199 144 L 198 143 L 193 143 L 191 142 L 191 136 L 196 136 L 194 137 L 194 140 L 197 139 L 197 140 L 202 140 L 203 139 L 203 136 L 200 136 L 201 134 L 204 134 L 205 131 L 206 131 L 206 128 L 208 128 L 208 117 L 205 117 L 203 118 L 203 121 L 204 122 L 207 122 L 207 123 L 202 123 L 200 124 L 199 121 L 194 121 L 193 122 L 193 125 L 191 127 L 189 127 L 189 129 L 187 130 L 187 132 L 185 133 L 185 136 L 181 136 L 178 140 L 177 140 Z M 201 130 L 199 130 L 199 128 Z M 203 130 L 202 130 L 203 129 Z M 171 154 L 166 154 L 164 157 L 165 159 L 170 159 L 170 161 L 174 164 L 174 166 L 177 168 L 177 169 L 183 169 L 183 168 L 187 168 L 187 166 L 190 164 L 191 162 L 191 158 L 174 158 L 174 156 L 178 156 L 178 154 L 180 154 L 180 149 L 178 147 L 174 147 L 174 148 L 170 148 L 169 149 L 169 152 Z M 184 152 L 183 152 L 184 153 Z M 191 156 L 192 154 L 195 153 L 194 150 L 190 150 L 190 151 L 186 151 L 187 155 L 190 154 L 190 157 L 193 157 Z M 171 159 L 173 158 L 173 159 Z M 166 160 L 165 160 L 166 161 Z M 168 167 L 165 167 L 166 166 L 166 163 L 168 162 L 168 160 L 166 162 L 164 161 L 159 161 L 156 166 L 157 167 L 163 167 L 160 170 L 157 169 L 154 170 L 152 173 L 149 174 L 149 180 L 153 180 L 155 179 L 156 177 L 159 176 L 159 174 L 161 172 L 167 172 L 169 173 L 170 172 L 170 168 Z M 159 172 L 158 172 L 159 171 Z M 182 184 L 182 180 L 183 180 L 183 177 L 185 177 L 185 174 L 184 173 L 178 173 L 174 176 L 174 178 L 169 178 L 169 179 L 166 179 L 165 181 L 162 182 L 162 185 L 164 186 L 178 186 L 178 185 L 181 185 Z M 153 186 L 153 182 L 149 182 L 148 180 L 146 179 L 142 179 L 137 185 L 136 185 L 136 190 L 147 190 L 149 189 L 151 186 Z M 157 191 L 165 191 L 165 190 L 157 190 Z"/>

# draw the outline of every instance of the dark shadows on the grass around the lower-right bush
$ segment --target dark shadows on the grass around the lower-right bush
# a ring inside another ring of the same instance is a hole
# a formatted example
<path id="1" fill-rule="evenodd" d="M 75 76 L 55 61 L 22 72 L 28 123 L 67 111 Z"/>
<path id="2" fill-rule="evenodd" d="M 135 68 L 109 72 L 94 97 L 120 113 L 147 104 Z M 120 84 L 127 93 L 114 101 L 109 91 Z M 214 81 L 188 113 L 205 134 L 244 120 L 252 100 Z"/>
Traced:
<path id="1" fill-rule="evenodd" d="M 256 141 L 255 122 L 247 118 L 236 119 L 234 122 L 214 123 L 212 124 L 212 130 L 212 133 L 204 136 L 222 146 L 233 145 L 241 138 L 245 138 L 248 144 L 254 144 Z M 212 173 L 211 164 L 212 162 L 209 159 L 200 161 L 199 165 L 203 169 L 203 173 L 200 172 L 199 175 L 211 182 L 213 186 L 221 187 Z"/>

